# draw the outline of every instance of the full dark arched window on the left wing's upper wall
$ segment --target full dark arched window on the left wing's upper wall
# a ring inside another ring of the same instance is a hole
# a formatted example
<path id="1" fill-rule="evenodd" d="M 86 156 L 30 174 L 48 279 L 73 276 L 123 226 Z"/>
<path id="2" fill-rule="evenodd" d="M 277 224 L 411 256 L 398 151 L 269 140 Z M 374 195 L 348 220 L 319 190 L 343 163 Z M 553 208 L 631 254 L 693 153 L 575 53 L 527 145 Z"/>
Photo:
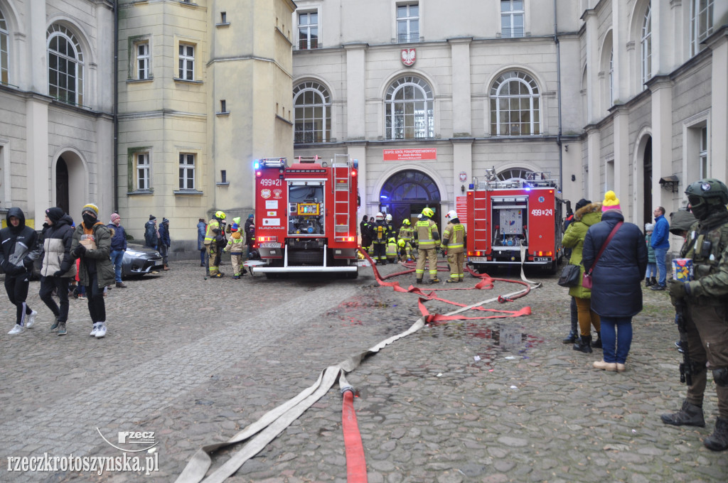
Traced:
<path id="1" fill-rule="evenodd" d="M 48 95 L 63 103 L 83 105 L 84 55 L 81 45 L 63 25 L 51 25 L 48 42 Z"/>

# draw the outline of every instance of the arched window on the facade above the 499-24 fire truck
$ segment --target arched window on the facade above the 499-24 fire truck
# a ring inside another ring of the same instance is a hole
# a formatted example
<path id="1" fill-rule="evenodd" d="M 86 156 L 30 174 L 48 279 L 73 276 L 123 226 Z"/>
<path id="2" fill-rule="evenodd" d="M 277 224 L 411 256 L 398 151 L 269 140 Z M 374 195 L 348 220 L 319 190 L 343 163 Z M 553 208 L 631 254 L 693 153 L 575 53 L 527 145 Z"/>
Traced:
<path id="1" fill-rule="evenodd" d="M 529 74 L 504 72 L 491 86 L 491 134 L 541 134 L 539 87 Z"/>

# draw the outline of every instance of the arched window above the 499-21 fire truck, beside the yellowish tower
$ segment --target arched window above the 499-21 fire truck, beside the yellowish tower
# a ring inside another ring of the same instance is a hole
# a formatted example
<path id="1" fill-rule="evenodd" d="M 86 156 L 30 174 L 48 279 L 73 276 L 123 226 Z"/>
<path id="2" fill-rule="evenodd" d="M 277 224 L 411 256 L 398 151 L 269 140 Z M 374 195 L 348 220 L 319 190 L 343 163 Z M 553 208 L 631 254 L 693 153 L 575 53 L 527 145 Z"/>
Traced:
<path id="1" fill-rule="evenodd" d="M 331 95 L 318 82 L 293 88 L 294 143 L 327 143 L 331 140 Z"/>

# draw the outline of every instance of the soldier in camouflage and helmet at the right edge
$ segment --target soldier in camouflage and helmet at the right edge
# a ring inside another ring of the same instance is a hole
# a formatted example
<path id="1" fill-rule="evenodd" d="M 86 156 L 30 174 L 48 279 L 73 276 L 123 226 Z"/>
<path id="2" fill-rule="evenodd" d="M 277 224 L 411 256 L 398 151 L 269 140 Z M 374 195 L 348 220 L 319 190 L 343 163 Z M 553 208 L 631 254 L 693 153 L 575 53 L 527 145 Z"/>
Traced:
<path id="1" fill-rule="evenodd" d="M 718 394 L 718 420 L 703 441 L 713 451 L 728 450 L 728 188 L 716 179 L 696 181 L 685 191 L 697 222 L 689 228 L 681 258 L 693 260 L 690 282 L 670 280 L 673 304 L 684 299 L 692 385 L 682 409 L 662 415 L 674 426 L 705 426 L 703 393 L 707 371 Z M 707 364 L 706 364 L 707 363 Z"/>

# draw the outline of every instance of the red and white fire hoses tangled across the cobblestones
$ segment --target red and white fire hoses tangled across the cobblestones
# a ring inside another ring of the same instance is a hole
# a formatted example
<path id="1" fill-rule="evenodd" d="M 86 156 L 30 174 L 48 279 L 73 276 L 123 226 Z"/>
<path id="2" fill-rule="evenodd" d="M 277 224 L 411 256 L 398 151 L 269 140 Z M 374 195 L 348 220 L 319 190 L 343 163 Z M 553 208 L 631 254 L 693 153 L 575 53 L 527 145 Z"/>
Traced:
<path id="1" fill-rule="evenodd" d="M 525 250 L 525 247 L 521 248 L 522 252 L 525 252 Z M 360 248 L 359 251 L 364 255 L 367 260 L 369 260 L 370 263 L 373 261 L 365 252 L 365 250 L 362 250 Z M 525 259 L 523 255 L 524 254 L 521 253 L 521 260 Z M 407 264 L 405 264 L 405 267 L 407 267 Z M 507 301 L 515 300 L 517 298 L 521 298 L 527 295 L 531 291 L 531 289 L 541 286 L 541 284 L 535 284 L 534 282 L 530 282 L 526 279 L 526 276 L 524 276 L 523 274 L 523 263 L 521 263 L 521 280 L 493 278 L 491 276 L 488 276 L 488 274 L 475 274 L 474 271 L 472 271 L 470 268 L 467 268 L 468 273 L 470 273 L 475 278 L 480 279 L 480 282 L 475 284 L 475 287 L 432 289 L 427 294 L 422 292 L 422 290 L 420 290 L 418 287 L 414 287 L 412 285 L 410 285 L 408 289 L 404 289 L 403 287 L 400 287 L 399 282 L 384 282 L 384 279 L 392 278 L 392 276 L 410 274 L 412 271 L 414 271 L 414 268 L 408 268 L 405 271 L 397 272 L 397 274 L 390 274 L 387 276 L 381 276 L 376 268 L 376 265 L 372 264 L 371 268 L 374 272 L 377 283 L 379 283 L 379 285 L 381 285 L 382 287 L 392 287 L 392 290 L 395 290 L 396 292 L 411 292 L 418 295 L 417 306 L 419 308 L 420 314 L 422 314 L 419 319 L 417 319 L 416 322 L 414 322 L 414 324 L 412 324 L 411 327 L 408 328 L 408 330 L 405 330 L 405 332 L 393 335 L 391 338 L 382 340 L 376 346 L 368 348 L 366 351 L 355 354 L 349 357 L 349 359 L 345 359 L 344 361 L 340 362 L 339 364 L 327 367 L 325 370 L 320 372 L 317 381 L 312 386 L 309 386 L 308 388 L 304 389 L 304 391 L 301 391 L 297 396 L 293 397 L 293 399 L 289 399 L 287 402 L 281 404 L 273 410 L 266 412 L 263 417 L 261 417 L 255 423 L 251 423 L 242 431 L 232 436 L 232 438 L 228 441 L 207 444 L 197 450 L 197 452 L 192 455 L 192 458 L 190 458 L 189 463 L 187 463 L 187 466 L 184 468 L 180 476 L 178 476 L 178 478 L 175 480 L 176 483 L 224 482 L 229 476 L 232 476 L 232 474 L 234 474 L 240 468 L 240 466 L 243 465 L 243 463 L 245 463 L 250 458 L 253 458 L 253 456 L 258 454 L 258 452 L 261 452 L 261 450 L 263 450 L 269 442 L 275 439 L 276 436 L 278 436 L 283 430 L 285 430 L 285 428 L 288 428 L 288 426 L 290 426 L 293 421 L 298 419 L 298 417 L 300 417 L 309 407 L 311 407 L 315 402 L 321 399 L 331 389 L 331 387 L 334 385 L 334 383 L 336 383 L 337 380 L 339 381 L 339 388 L 341 389 L 341 395 L 343 399 L 341 418 L 342 431 L 344 431 L 344 444 L 347 455 L 347 482 L 365 483 L 367 481 L 366 462 L 364 458 L 363 445 L 361 442 L 361 435 L 359 434 L 359 428 L 356 420 L 356 412 L 354 410 L 353 388 L 349 385 L 344 375 L 348 372 L 352 372 L 353 370 L 355 370 L 359 366 L 359 364 L 363 362 L 364 359 L 372 356 L 373 354 L 376 354 L 377 352 L 381 351 L 381 349 L 389 346 L 389 344 L 395 342 L 396 340 L 400 340 L 401 338 L 405 338 L 408 335 L 417 332 L 418 330 L 422 329 L 422 327 L 424 327 L 424 324 L 427 323 L 452 320 L 502 319 L 505 317 L 518 317 L 522 315 L 529 315 L 531 314 L 530 307 L 523 307 L 521 308 L 521 310 L 518 311 L 499 311 L 493 308 L 483 308 L 481 306 L 491 302 L 505 303 Z M 438 266 L 438 271 L 441 270 L 446 271 L 447 269 L 441 269 Z M 524 288 L 515 292 L 510 292 L 505 295 L 498 295 L 494 298 L 489 298 L 487 300 L 474 303 L 470 306 L 465 306 L 464 304 L 455 303 L 451 300 L 446 300 L 444 298 L 438 298 L 435 296 L 435 292 L 437 292 L 438 290 L 489 290 L 494 287 L 493 282 L 521 284 Z M 427 311 L 427 308 L 425 308 L 424 306 L 424 302 L 427 302 L 427 300 L 439 300 L 441 302 L 450 303 L 451 305 L 458 306 L 459 308 L 452 312 L 449 312 L 448 314 L 430 314 L 430 312 Z M 496 312 L 499 315 L 481 317 L 466 317 L 459 315 L 462 312 L 468 310 Z M 205 477 L 205 475 L 207 475 L 207 471 L 212 465 L 212 459 L 210 458 L 210 454 L 212 452 L 220 450 L 223 447 L 229 447 L 232 444 L 244 442 L 246 440 L 248 440 L 248 442 L 247 444 L 245 444 L 244 447 L 242 447 L 242 449 L 234 453 L 229 460 L 223 463 L 222 466 L 220 466 L 210 475 Z"/>

